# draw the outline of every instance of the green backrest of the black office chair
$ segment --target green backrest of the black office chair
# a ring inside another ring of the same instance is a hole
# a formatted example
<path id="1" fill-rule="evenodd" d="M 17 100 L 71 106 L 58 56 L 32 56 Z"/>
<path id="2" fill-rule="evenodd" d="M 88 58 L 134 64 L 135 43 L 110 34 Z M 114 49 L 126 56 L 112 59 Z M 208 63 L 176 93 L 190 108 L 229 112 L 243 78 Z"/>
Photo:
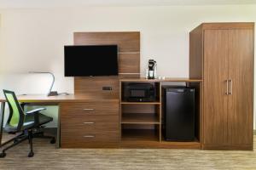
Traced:
<path id="1" fill-rule="evenodd" d="M 16 127 L 17 131 L 20 131 L 24 122 L 25 113 L 16 98 L 15 92 L 3 90 L 3 94 L 9 105 L 9 118 L 7 123 L 9 126 Z"/>

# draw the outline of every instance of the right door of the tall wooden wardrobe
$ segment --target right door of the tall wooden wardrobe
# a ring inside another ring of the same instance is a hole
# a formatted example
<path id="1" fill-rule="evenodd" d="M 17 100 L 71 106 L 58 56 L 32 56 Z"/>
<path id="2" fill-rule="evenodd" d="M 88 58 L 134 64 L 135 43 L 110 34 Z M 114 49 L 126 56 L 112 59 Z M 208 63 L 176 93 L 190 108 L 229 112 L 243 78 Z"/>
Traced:
<path id="1" fill-rule="evenodd" d="M 253 29 L 229 31 L 230 144 L 253 144 Z"/>

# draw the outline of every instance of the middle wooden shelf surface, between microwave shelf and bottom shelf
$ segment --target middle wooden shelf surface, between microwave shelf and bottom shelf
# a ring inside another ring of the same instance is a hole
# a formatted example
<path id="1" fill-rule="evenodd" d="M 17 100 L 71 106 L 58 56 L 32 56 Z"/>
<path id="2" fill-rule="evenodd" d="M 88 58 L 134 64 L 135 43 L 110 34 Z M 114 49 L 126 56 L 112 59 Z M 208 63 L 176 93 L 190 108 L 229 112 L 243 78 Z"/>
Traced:
<path id="1" fill-rule="evenodd" d="M 154 113 L 123 113 L 122 124 L 160 124 Z"/>

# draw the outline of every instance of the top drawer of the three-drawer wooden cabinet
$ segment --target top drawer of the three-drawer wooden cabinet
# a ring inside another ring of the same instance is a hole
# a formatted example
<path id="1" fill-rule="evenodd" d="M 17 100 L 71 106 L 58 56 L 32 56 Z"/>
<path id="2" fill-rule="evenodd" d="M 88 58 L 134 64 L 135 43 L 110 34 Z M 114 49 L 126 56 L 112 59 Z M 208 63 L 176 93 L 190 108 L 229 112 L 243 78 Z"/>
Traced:
<path id="1" fill-rule="evenodd" d="M 118 102 L 67 103 L 61 105 L 61 116 L 118 115 Z"/>

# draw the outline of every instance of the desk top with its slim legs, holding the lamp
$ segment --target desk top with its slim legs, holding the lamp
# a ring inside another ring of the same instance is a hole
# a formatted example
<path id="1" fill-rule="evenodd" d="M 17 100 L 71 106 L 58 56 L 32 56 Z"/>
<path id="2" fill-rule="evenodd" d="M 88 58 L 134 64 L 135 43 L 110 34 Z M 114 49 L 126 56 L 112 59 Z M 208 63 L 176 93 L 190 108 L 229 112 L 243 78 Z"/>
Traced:
<path id="1" fill-rule="evenodd" d="M 46 96 L 44 94 L 29 94 L 29 95 L 18 95 L 17 99 L 19 102 L 30 103 L 32 105 L 57 105 L 59 106 L 58 112 L 58 130 L 57 130 L 57 137 L 56 137 L 56 147 L 60 147 L 60 111 L 61 105 L 65 105 L 68 103 L 80 103 L 80 102 L 92 102 L 92 101 L 103 101 L 106 99 L 98 99 L 95 96 L 90 95 L 58 95 L 58 96 Z M 119 99 L 108 99 L 108 101 L 119 101 Z M 0 116 L 0 144 L 2 142 L 2 133 L 3 133 L 3 116 L 4 116 L 4 109 L 5 109 L 5 99 L 0 99 L 1 102 L 1 116 Z"/>

